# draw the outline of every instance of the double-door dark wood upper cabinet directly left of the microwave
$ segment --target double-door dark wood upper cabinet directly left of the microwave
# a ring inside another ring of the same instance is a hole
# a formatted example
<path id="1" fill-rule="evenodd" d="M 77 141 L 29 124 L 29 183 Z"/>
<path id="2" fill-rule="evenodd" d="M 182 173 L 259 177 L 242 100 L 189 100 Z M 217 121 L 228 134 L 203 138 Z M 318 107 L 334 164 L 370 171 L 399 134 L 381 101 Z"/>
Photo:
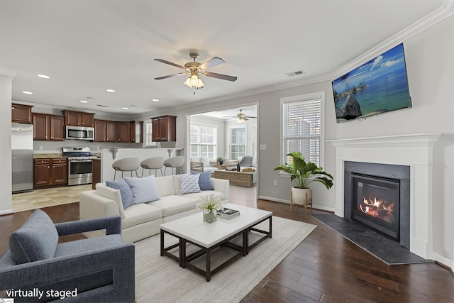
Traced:
<path id="1" fill-rule="evenodd" d="M 65 117 L 33 114 L 33 140 L 65 141 Z"/>

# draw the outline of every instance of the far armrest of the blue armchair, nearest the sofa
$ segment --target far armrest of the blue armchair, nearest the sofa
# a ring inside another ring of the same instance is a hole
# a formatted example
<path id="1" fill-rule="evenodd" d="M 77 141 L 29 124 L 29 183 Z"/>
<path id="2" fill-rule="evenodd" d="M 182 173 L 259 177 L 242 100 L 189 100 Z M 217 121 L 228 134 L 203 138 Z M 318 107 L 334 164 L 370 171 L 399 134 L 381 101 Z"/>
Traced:
<path id="1" fill-rule="evenodd" d="M 105 216 L 55 224 L 59 236 L 106 229 L 106 235 L 121 234 L 121 216 Z"/>

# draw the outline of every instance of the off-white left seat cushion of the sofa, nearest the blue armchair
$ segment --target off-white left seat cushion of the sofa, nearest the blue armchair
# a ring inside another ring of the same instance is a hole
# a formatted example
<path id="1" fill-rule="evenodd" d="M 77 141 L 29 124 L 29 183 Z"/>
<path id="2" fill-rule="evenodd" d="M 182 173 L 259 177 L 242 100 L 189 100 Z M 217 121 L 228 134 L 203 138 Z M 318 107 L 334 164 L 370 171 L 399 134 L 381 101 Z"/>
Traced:
<path id="1" fill-rule="evenodd" d="M 162 218 L 161 209 L 148 205 L 146 203 L 131 205 L 130 207 L 125 209 L 125 214 L 125 219 L 121 220 L 122 229 Z"/>

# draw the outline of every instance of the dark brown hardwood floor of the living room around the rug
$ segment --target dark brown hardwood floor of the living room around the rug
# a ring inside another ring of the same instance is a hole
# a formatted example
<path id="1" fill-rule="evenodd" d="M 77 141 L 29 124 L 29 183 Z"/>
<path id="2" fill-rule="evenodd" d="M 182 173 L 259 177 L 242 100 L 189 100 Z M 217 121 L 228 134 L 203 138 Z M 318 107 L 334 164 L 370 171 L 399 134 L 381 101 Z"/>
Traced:
<path id="1" fill-rule="evenodd" d="M 242 302 L 454 302 L 454 277 L 440 265 L 388 266 L 309 214 L 304 216 L 301 208 L 291 214 L 288 204 L 231 202 L 318 226 Z M 79 203 L 43 210 L 55 223 L 79 219 Z M 31 212 L 0 216 L 0 254 Z"/>

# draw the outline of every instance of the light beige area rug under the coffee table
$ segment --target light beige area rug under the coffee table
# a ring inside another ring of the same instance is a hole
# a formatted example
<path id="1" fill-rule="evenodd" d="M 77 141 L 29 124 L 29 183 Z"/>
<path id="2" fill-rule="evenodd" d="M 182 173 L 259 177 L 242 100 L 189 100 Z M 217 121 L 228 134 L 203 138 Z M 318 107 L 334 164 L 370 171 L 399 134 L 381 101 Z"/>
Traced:
<path id="1" fill-rule="evenodd" d="M 258 228 L 267 230 L 268 221 Z M 178 263 L 160 256 L 160 236 L 135 242 L 135 301 L 143 302 L 240 302 L 298 246 L 315 225 L 272 217 L 272 238 L 250 250 L 245 257 L 224 268 L 206 282 L 205 277 L 180 268 Z M 167 236 L 167 235 L 166 235 Z M 175 238 L 167 236 L 165 244 Z M 214 250 L 211 264 L 228 257 L 231 250 Z M 201 257 L 204 259 L 204 257 Z M 204 263 L 204 260 L 200 260 Z"/>

